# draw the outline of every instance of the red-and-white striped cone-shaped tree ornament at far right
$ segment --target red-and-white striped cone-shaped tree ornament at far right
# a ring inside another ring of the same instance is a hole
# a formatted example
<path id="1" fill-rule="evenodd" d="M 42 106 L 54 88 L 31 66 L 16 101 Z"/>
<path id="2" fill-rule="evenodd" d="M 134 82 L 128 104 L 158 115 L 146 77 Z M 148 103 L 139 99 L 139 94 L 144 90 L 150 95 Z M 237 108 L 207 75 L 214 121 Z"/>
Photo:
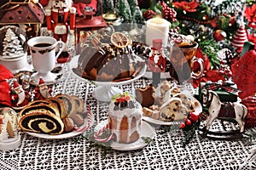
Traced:
<path id="1" fill-rule="evenodd" d="M 245 26 L 242 24 L 236 31 L 235 36 L 232 38 L 231 45 L 236 47 L 237 53 L 241 53 L 244 42 L 247 42 L 247 31 Z"/>

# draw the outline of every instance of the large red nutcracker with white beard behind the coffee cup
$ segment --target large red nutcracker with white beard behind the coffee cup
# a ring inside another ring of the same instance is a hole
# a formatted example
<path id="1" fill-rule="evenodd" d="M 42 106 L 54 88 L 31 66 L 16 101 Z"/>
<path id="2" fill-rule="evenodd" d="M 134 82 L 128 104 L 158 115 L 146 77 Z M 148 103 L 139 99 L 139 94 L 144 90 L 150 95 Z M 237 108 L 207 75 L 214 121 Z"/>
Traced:
<path id="1" fill-rule="evenodd" d="M 49 5 L 50 8 L 45 8 L 47 29 L 57 41 L 65 42 L 65 48 L 57 59 L 58 63 L 65 63 L 71 59 L 67 46 L 69 33 L 74 34 L 76 8 L 72 7 L 71 0 L 50 0 Z"/>

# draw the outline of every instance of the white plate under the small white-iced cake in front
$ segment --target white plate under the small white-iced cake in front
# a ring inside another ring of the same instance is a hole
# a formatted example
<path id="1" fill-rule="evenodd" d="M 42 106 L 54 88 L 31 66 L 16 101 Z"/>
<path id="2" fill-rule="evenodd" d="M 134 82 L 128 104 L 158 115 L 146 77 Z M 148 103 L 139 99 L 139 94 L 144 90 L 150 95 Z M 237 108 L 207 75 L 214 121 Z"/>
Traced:
<path id="1" fill-rule="evenodd" d="M 102 129 L 102 127 L 105 127 L 106 124 L 108 123 L 108 120 L 100 122 L 98 125 L 96 125 L 95 130 L 96 132 Z M 121 144 L 117 142 L 112 142 L 111 143 L 111 148 L 113 150 L 137 150 L 145 147 L 148 145 L 147 143 L 144 142 L 142 137 L 148 137 L 150 139 L 154 138 L 154 128 L 151 127 L 147 122 L 142 123 L 142 131 L 141 131 L 141 138 L 138 139 L 136 142 L 133 142 L 131 144 Z"/>

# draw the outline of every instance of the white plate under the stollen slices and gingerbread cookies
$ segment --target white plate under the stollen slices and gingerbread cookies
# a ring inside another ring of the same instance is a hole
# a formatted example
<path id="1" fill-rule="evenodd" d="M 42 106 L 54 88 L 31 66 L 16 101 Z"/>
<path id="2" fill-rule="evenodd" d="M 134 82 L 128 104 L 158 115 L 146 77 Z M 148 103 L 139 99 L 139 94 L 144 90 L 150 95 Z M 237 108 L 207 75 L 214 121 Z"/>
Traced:
<path id="1" fill-rule="evenodd" d="M 198 103 L 198 105 L 195 107 L 195 113 L 197 113 L 197 114 L 201 113 L 201 111 L 202 111 L 201 103 L 197 99 L 195 99 L 194 97 L 192 97 L 192 100 L 194 100 L 195 102 Z M 183 120 L 181 120 L 181 121 L 166 122 L 166 121 L 160 121 L 160 120 L 157 120 L 157 119 L 153 119 L 149 116 L 143 116 L 143 120 L 147 121 L 147 122 L 157 124 L 157 125 L 173 125 L 173 124 L 177 124 L 177 122 L 183 121 Z"/>

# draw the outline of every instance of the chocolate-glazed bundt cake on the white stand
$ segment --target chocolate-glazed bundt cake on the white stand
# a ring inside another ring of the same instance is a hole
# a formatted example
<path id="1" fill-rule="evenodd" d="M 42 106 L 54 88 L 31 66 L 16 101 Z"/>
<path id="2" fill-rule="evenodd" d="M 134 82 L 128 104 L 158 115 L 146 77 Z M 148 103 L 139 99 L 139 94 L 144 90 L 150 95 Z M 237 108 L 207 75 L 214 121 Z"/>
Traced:
<path id="1" fill-rule="evenodd" d="M 115 36 L 117 35 L 123 34 L 118 32 Z M 90 39 L 79 56 L 78 67 L 73 71 L 80 77 L 97 82 L 120 82 L 136 77 L 146 65 L 142 58 L 143 55 L 150 53 L 150 48 L 145 44 L 138 45 L 138 42 L 132 42 L 129 38 L 123 46 L 118 46 L 119 42 L 113 44 L 113 41 L 106 39 L 113 39 L 113 37 Z M 136 50 L 137 47 L 139 49 Z"/>

